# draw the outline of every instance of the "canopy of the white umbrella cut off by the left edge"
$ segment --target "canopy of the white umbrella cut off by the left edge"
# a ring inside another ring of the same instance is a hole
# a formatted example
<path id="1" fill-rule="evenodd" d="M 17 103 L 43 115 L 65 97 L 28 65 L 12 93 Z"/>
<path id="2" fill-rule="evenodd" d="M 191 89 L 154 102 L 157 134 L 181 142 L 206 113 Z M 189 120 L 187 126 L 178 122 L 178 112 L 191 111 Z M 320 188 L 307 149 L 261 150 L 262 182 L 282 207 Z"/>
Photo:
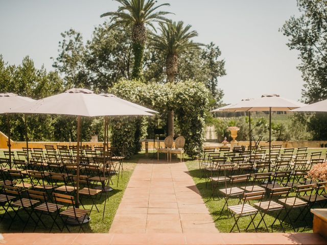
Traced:
<path id="1" fill-rule="evenodd" d="M 0 114 L 11 113 L 13 109 L 35 100 L 15 93 L 0 93 Z"/>

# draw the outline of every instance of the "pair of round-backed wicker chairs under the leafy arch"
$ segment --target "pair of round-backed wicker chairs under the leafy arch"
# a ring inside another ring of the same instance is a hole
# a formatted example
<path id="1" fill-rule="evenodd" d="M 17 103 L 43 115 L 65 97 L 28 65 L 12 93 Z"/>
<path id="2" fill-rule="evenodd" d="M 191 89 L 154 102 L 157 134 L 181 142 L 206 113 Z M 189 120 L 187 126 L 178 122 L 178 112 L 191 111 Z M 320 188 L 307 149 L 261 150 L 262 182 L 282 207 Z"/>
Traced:
<path id="1" fill-rule="evenodd" d="M 157 148 L 157 160 L 159 160 L 159 153 L 165 153 L 167 156 L 167 161 L 172 160 L 172 154 L 180 155 L 180 161 L 184 160 L 184 145 L 185 138 L 179 136 L 175 139 L 175 149 L 173 148 L 174 138 L 173 136 L 168 136 L 165 138 L 165 148 Z"/>

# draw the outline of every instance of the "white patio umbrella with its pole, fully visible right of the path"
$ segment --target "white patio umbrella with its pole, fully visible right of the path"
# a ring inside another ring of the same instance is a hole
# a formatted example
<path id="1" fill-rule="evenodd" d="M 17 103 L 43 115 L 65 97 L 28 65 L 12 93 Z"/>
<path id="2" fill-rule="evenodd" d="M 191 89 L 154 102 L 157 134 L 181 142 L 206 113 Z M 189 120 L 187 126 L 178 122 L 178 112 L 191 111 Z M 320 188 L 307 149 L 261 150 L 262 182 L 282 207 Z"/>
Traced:
<path id="1" fill-rule="evenodd" d="M 269 111 L 269 162 L 271 161 L 271 112 L 290 111 L 306 104 L 280 97 L 278 94 L 264 94 L 259 99 L 241 101 L 225 111 Z M 269 164 L 270 168 L 270 164 Z M 270 169 L 269 169 L 270 170 Z"/>

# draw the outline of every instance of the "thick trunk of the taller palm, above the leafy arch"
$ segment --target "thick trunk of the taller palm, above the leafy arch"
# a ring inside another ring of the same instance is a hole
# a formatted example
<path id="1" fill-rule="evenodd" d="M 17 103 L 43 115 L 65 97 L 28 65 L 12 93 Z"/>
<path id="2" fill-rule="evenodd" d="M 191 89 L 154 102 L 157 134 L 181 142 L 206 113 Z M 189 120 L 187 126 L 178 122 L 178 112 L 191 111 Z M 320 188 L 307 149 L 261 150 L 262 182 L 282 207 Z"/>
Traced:
<path id="1" fill-rule="evenodd" d="M 132 32 L 132 50 L 134 54 L 132 79 L 142 79 L 142 62 L 146 41 L 147 30 L 144 24 L 136 24 Z"/>

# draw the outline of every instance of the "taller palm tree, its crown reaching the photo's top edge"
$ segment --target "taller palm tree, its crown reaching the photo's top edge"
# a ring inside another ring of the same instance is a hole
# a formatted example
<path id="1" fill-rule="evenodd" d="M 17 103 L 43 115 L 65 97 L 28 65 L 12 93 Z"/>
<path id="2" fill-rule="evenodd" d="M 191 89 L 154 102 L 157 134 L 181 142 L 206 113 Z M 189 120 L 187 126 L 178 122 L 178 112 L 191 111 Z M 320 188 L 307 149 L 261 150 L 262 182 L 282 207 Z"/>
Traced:
<path id="1" fill-rule="evenodd" d="M 153 22 L 166 21 L 164 15 L 170 12 L 158 11 L 156 9 L 170 4 L 160 4 L 156 0 L 114 0 L 122 6 L 116 12 L 107 12 L 100 17 L 111 16 L 111 28 L 116 26 L 130 27 L 132 30 L 132 50 L 134 54 L 134 66 L 132 78 L 139 79 L 142 77 L 142 60 L 147 41 L 146 25 L 154 28 Z"/>

